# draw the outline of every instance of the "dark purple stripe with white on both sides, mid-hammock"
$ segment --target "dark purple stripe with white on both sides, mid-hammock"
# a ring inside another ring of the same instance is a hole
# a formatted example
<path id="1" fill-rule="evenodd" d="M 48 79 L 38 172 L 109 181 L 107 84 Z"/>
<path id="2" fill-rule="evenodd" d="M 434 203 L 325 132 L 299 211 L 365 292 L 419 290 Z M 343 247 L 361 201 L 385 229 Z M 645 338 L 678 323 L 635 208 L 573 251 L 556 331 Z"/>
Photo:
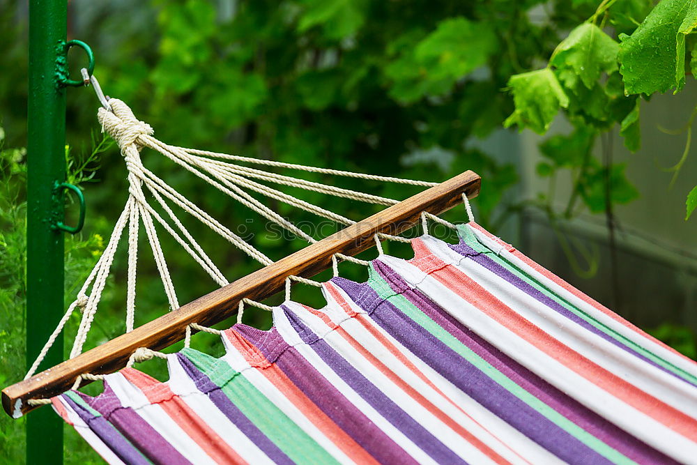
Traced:
<path id="1" fill-rule="evenodd" d="M 321 337 L 316 335 L 300 318 L 284 305 L 281 306 L 284 310 L 286 319 L 291 323 L 293 329 L 300 336 L 303 342 L 310 346 L 312 350 L 321 357 L 329 367 L 343 379 L 348 386 L 351 386 L 355 392 L 368 402 L 378 413 L 381 414 L 392 425 L 395 425 L 399 431 L 404 433 L 413 443 L 418 445 L 436 462 L 441 464 L 464 464 L 457 454 L 447 448 L 445 444 L 438 441 L 436 436 L 431 434 L 417 420 L 412 418 L 408 413 L 402 410 L 395 404 L 390 397 L 385 395 L 365 376 L 358 372 L 351 363 L 348 363 L 337 351 Z"/>

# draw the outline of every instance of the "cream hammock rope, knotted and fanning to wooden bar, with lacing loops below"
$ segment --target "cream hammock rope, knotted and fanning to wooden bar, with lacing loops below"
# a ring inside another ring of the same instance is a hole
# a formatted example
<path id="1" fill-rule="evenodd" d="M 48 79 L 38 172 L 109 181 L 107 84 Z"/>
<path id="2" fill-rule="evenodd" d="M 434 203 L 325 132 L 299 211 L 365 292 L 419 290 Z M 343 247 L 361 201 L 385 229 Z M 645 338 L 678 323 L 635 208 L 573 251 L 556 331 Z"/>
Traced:
<path id="1" fill-rule="evenodd" d="M 245 252 L 245 254 L 252 259 L 259 261 L 263 265 L 273 263 L 269 257 L 257 250 L 256 247 L 244 241 L 243 238 L 233 233 L 233 231 L 215 220 L 215 218 L 206 213 L 206 211 L 199 208 L 192 201 L 162 181 L 162 179 L 156 176 L 152 171 L 146 169 L 140 157 L 140 151 L 144 147 L 151 148 L 153 151 L 164 155 L 165 157 L 169 158 L 169 160 L 175 162 L 177 165 L 183 167 L 198 178 L 201 178 L 206 183 L 213 185 L 213 187 L 220 190 L 220 192 L 223 192 L 232 199 L 239 201 L 240 204 L 247 206 L 247 208 L 250 208 L 255 213 L 261 215 L 261 217 L 279 224 L 284 229 L 291 231 L 291 233 L 305 239 L 305 241 L 308 241 L 309 243 L 315 243 L 316 239 L 309 234 L 306 234 L 298 226 L 296 226 L 296 224 L 293 224 L 289 220 L 286 220 L 286 218 L 282 217 L 282 215 L 279 215 L 275 211 L 271 210 L 263 202 L 252 197 L 252 195 L 250 195 L 247 191 L 256 192 L 257 194 L 263 195 L 268 199 L 282 201 L 285 204 L 293 206 L 294 208 L 300 208 L 303 211 L 319 215 L 322 218 L 328 218 L 329 220 L 335 221 L 339 224 L 355 224 L 355 221 L 346 218 L 344 215 L 340 215 L 339 213 L 334 213 L 308 201 L 293 197 L 293 195 L 289 195 L 275 188 L 271 188 L 268 185 L 253 181 L 252 179 L 275 183 L 277 185 L 285 185 L 291 188 L 299 188 L 306 191 L 320 192 L 325 195 L 342 197 L 369 204 L 390 206 L 397 204 L 398 201 L 388 197 L 371 195 L 365 192 L 355 192 L 353 190 L 339 188 L 333 185 L 308 181 L 306 179 L 286 176 L 284 174 L 267 172 L 261 169 L 255 169 L 253 167 L 238 165 L 233 162 L 250 163 L 264 167 L 301 170 L 329 176 L 359 178 L 367 181 L 398 183 L 402 185 L 415 185 L 421 187 L 431 187 L 437 185 L 437 183 L 430 183 L 427 181 L 415 181 L 411 179 L 361 174 L 337 169 L 308 167 L 294 163 L 278 162 L 275 160 L 259 160 L 240 155 L 228 155 L 224 153 L 171 146 L 160 142 L 158 139 L 155 139 L 155 137 L 153 137 L 153 128 L 151 128 L 151 126 L 147 123 L 136 119 L 128 105 L 121 100 L 115 98 L 110 99 L 108 107 L 109 108 L 102 107 L 98 110 L 98 120 L 102 125 L 102 132 L 107 132 L 116 141 L 116 144 L 118 144 L 118 147 L 121 150 L 121 155 L 123 155 L 125 165 L 128 169 L 128 200 L 125 202 L 123 211 L 114 224 L 114 229 L 109 237 L 107 247 L 105 247 L 104 252 L 102 252 L 97 263 L 92 268 L 89 277 L 78 292 L 77 298 L 75 298 L 75 300 L 68 307 L 68 310 L 61 318 L 56 330 L 54 330 L 54 333 L 52 333 L 47 340 L 45 346 L 40 351 L 24 379 L 28 379 L 36 372 L 36 369 L 44 360 L 47 351 L 50 349 L 52 344 L 54 344 L 56 337 L 61 333 L 63 328 L 66 326 L 68 319 L 70 319 L 70 316 L 73 312 L 75 312 L 76 309 L 80 310 L 82 317 L 80 319 L 77 335 L 75 336 L 75 342 L 73 343 L 70 351 L 70 358 L 74 358 L 82 352 L 82 348 L 86 342 L 95 313 L 97 312 L 97 307 L 101 300 L 102 292 L 105 289 L 106 280 L 111 271 L 118 243 L 121 240 L 123 231 L 127 225 L 128 273 L 125 314 L 125 331 L 127 333 L 132 331 L 135 326 L 136 277 L 138 265 L 137 255 L 139 251 L 138 241 L 141 223 L 144 227 L 148 245 L 153 252 L 155 264 L 158 268 L 158 273 L 164 287 L 164 294 L 167 296 L 170 310 L 175 310 L 178 308 L 179 303 L 176 296 L 176 290 L 174 289 L 174 282 L 172 280 L 169 267 L 167 266 L 167 260 L 164 257 L 162 245 L 160 244 L 158 231 L 155 228 L 155 223 L 160 224 L 164 231 L 166 231 L 169 236 L 174 238 L 176 243 L 181 245 L 185 252 L 187 252 L 187 254 L 189 254 L 194 261 L 197 261 L 199 266 L 201 266 L 201 268 L 203 268 L 204 271 L 206 271 L 206 273 L 210 275 L 210 277 L 218 285 L 224 286 L 229 283 L 220 269 L 215 266 L 213 260 L 208 257 L 208 254 L 206 254 L 203 247 L 201 247 L 198 241 L 196 241 L 192 234 L 190 234 L 190 231 L 188 231 L 178 216 L 174 213 L 170 204 L 168 204 L 168 201 L 171 202 L 171 204 L 178 206 L 186 213 L 192 215 L 216 234 L 222 236 L 224 239 L 229 241 L 229 243 L 235 245 L 240 250 Z M 144 194 L 144 187 L 153 197 L 153 199 L 155 199 L 155 202 L 160 206 L 160 208 L 162 208 L 162 211 L 165 213 L 164 216 L 168 218 L 167 220 L 162 218 L 162 215 L 160 215 L 158 211 L 155 211 L 155 209 L 148 204 L 148 199 Z M 468 212 L 468 218 L 470 221 L 473 221 L 473 215 L 471 213 L 468 199 L 464 197 L 464 201 Z M 440 219 L 436 217 L 436 220 Z M 443 220 L 440 221 L 443 222 Z M 427 227 L 427 216 L 425 213 L 422 215 L 422 222 Z M 444 224 L 450 223 L 444 222 Z M 381 239 L 406 243 L 410 242 L 410 239 L 408 238 L 378 233 L 374 236 L 374 240 L 376 242 L 376 246 L 378 247 L 379 254 L 384 253 L 381 245 Z M 343 254 L 335 254 L 332 256 L 332 268 L 334 268 L 335 275 L 339 274 L 339 259 L 352 261 L 353 263 L 357 264 L 369 265 L 369 262 L 365 260 L 355 259 L 354 257 L 348 257 Z M 291 298 L 291 283 L 293 281 L 302 282 L 315 287 L 322 286 L 320 282 L 314 280 L 309 280 L 299 276 L 289 276 L 286 278 L 285 283 L 286 300 L 290 300 Z M 90 290 L 89 294 L 88 289 Z M 237 318 L 238 323 L 242 322 L 245 305 L 251 305 L 266 311 L 273 310 L 272 307 L 269 307 L 268 305 L 255 302 L 249 298 L 243 298 L 239 303 Z M 191 323 L 189 326 L 187 326 L 185 333 L 185 346 L 187 347 L 190 346 L 192 330 L 204 331 L 216 335 L 221 334 L 220 330 L 206 328 L 197 323 Z M 164 355 L 164 353 L 151 351 L 150 349 L 141 347 L 137 349 L 129 358 L 127 366 L 130 367 L 134 363 L 148 360 L 155 356 L 160 358 L 167 357 Z M 75 385 L 73 387 L 79 387 L 79 384 L 84 379 L 95 381 L 97 379 L 103 379 L 103 377 L 104 375 L 82 374 L 75 380 Z M 50 400 L 30 399 L 27 402 L 31 405 L 39 405 L 50 403 Z"/>

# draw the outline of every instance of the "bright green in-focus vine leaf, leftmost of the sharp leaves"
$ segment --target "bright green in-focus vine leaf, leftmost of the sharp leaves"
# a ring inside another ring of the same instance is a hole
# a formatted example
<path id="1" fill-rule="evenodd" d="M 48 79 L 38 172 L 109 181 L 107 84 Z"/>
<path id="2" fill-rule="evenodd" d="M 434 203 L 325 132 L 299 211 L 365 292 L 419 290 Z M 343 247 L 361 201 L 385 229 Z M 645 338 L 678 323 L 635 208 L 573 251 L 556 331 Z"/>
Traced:
<path id="1" fill-rule="evenodd" d="M 514 75 L 508 81 L 508 88 L 516 109 L 504 121 L 505 128 L 517 124 L 520 130 L 530 128 L 544 134 L 559 109 L 569 106 L 569 97 L 549 68 Z"/>

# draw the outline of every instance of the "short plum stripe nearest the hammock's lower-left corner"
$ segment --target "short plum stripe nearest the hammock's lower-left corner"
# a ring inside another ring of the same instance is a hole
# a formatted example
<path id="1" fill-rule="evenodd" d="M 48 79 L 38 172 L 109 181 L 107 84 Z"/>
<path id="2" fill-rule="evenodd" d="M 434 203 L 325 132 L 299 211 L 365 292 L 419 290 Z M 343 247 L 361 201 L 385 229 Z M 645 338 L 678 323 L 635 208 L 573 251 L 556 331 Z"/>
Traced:
<path id="1" fill-rule="evenodd" d="M 109 420 L 153 463 L 162 465 L 191 463 L 132 408 L 122 406 L 112 388 L 109 387 L 108 381 L 104 381 L 104 392 L 97 397 L 83 395 L 82 398 Z"/>

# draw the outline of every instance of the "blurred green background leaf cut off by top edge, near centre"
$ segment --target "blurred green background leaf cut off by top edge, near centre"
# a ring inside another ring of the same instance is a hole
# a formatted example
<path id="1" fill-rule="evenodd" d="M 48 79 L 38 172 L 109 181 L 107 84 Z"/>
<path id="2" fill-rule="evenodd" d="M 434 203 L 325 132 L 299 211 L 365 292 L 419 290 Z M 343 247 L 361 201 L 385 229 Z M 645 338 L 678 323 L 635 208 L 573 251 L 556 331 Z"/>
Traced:
<path id="1" fill-rule="evenodd" d="M 321 26 L 326 38 L 332 40 L 351 36 L 365 22 L 365 3 L 358 0 L 304 0 L 305 10 L 298 21 L 298 31 Z"/>

